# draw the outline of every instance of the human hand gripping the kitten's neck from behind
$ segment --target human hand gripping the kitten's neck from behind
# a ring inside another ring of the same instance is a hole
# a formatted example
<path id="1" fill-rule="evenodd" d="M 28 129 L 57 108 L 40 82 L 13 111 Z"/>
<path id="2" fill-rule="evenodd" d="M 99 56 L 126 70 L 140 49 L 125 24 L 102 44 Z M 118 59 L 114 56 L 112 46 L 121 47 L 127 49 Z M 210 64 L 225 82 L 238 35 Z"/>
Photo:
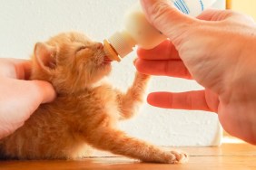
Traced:
<path id="1" fill-rule="evenodd" d="M 27 80 L 30 67 L 30 61 L 0 59 L 0 138 L 23 126 L 41 103 L 55 97 L 50 83 Z"/>

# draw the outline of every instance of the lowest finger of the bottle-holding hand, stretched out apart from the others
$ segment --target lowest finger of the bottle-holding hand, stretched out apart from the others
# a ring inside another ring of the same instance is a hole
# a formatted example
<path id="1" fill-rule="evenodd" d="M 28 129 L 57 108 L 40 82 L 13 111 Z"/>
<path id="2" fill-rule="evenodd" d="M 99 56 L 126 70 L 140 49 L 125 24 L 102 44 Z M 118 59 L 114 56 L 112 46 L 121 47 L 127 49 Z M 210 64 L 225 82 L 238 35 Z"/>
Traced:
<path id="1" fill-rule="evenodd" d="M 164 109 L 189 109 L 216 111 L 207 104 L 204 90 L 186 91 L 181 93 L 153 92 L 149 94 L 149 104 Z"/>

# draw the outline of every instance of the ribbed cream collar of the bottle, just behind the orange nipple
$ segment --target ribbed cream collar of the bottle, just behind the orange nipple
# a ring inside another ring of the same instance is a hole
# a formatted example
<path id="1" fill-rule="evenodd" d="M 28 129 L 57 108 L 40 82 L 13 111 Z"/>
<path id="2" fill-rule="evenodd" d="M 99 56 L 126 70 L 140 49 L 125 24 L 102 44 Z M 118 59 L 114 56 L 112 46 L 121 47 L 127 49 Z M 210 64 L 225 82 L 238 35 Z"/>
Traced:
<path id="1" fill-rule="evenodd" d="M 111 43 L 115 52 L 117 52 L 122 58 L 128 53 L 133 52 L 133 47 L 136 44 L 131 35 L 125 31 L 122 33 L 113 33 L 113 35 L 108 39 L 108 42 Z"/>

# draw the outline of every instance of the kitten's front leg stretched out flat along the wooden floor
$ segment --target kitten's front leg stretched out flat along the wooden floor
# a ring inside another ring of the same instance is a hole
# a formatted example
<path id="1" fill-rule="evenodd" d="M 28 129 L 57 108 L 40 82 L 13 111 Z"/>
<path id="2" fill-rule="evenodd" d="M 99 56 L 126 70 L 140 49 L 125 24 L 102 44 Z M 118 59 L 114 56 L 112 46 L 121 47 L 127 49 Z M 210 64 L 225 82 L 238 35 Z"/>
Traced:
<path id="1" fill-rule="evenodd" d="M 94 135 L 86 137 L 92 146 L 112 152 L 116 155 L 140 159 L 144 162 L 175 164 L 186 160 L 187 155 L 177 151 L 164 151 L 133 137 L 127 137 L 122 131 L 105 127 L 94 130 Z"/>

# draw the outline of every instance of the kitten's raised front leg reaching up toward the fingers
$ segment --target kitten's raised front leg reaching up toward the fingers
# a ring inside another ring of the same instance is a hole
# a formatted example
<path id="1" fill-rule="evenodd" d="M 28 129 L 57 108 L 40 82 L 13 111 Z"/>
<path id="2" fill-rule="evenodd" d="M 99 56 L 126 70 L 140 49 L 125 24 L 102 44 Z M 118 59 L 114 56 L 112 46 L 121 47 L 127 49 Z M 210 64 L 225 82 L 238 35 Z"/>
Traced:
<path id="1" fill-rule="evenodd" d="M 136 72 L 133 85 L 125 94 L 119 93 L 118 101 L 123 119 L 133 117 L 138 112 L 139 106 L 142 105 L 147 82 L 150 76 Z"/>

